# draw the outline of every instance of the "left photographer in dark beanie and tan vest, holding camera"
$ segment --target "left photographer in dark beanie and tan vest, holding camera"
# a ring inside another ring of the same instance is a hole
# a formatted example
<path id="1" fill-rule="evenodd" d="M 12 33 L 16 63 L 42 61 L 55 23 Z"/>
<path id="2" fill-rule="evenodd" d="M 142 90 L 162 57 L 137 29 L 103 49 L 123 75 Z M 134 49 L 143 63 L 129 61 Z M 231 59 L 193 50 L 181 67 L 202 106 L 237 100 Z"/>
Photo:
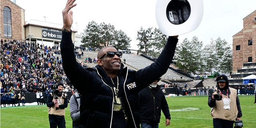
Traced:
<path id="1" fill-rule="evenodd" d="M 65 108 L 68 107 L 68 96 L 63 92 L 63 83 L 58 82 L 58 88 L 47 96 L 47 107 L 50 128 L 66 128 Z"/>

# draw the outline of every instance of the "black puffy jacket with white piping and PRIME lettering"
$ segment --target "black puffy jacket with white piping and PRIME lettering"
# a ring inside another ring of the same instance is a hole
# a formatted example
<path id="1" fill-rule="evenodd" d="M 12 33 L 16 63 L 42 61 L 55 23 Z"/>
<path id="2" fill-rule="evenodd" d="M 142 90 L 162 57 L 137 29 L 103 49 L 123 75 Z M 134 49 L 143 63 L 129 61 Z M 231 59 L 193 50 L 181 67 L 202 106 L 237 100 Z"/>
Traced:
<path id="1" fill-rule="evenodd" d="M 80 124 L 85 128 L 111 128 L 114 105 L 111 78 L 99 65 L 84 69 L 76 61 L 71 35 L 71 32 L 62 32 L 60 48 L 64 72 L 82 95 Z M 118 90 L 128 117 L 129 128 L 140 128 L 138 92 L 166 73 L 174 56 L 177 42 L 177 38 L 169 37 L 160 56 L 146 68 L 134 71 L 128 67 L 124 68 L 124 64 L 121 64 L 117 75 Z"/>

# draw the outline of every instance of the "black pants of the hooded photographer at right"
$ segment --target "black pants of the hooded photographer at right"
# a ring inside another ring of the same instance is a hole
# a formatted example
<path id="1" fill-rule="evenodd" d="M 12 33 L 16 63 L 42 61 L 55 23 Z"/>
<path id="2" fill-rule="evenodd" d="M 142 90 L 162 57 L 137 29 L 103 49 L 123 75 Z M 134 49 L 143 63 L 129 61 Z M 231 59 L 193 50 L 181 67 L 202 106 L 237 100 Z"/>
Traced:
<path id="1" fill-rule="evenodd" d="M 213 128 L 233 128 L 234 121 L 213 119 Z"/>

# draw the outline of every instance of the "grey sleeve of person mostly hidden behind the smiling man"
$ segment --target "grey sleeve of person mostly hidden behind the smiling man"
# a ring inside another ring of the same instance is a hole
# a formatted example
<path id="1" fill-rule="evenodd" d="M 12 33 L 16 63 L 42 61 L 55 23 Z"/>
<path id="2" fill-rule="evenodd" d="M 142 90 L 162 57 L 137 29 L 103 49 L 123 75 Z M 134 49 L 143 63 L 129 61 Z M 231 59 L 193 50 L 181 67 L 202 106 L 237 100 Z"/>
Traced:
<path id="1" fill-rule="evenodd" d="M 76 100 L 74 98 L 74 95 L 71 96 L 70 102 L 69 102 L 69 109 L 70 109 L 70 116 L 74 122 L 79 121 L 80 118 L 80 111 L 78 111 L 78 104 L 76 103 Z"/>

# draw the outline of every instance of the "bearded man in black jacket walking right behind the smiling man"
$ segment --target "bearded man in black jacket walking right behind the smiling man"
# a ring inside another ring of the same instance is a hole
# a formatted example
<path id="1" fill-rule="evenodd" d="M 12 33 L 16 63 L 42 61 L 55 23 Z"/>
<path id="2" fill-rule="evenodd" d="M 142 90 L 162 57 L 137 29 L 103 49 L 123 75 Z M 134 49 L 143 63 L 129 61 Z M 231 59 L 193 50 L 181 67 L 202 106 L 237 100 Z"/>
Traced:
<path id="1" fill-rule="evenodd" d="M 160 78 L 139 92 L 141 128 L 158 128 L 161 110 L 165 116 L 165 125 L 170 125 L 170 111 L 164 92 L 157 85 Z"/>

